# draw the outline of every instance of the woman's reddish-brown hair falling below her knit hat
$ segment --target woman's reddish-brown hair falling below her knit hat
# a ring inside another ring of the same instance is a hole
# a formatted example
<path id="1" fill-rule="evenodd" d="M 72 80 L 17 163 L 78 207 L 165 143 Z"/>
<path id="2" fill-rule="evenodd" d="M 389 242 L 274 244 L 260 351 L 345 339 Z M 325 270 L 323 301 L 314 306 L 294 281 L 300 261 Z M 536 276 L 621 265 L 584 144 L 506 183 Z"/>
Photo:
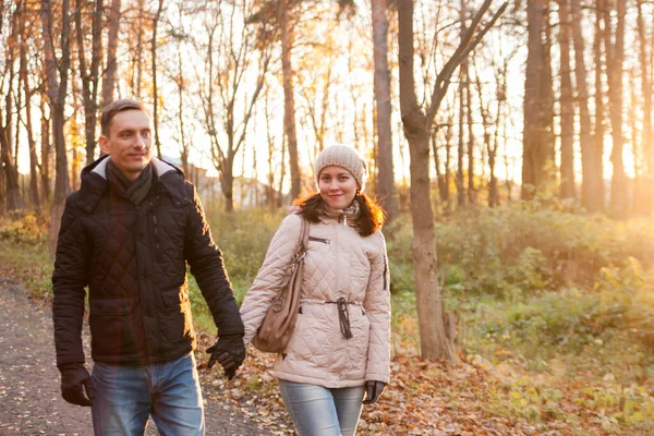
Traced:
<path id="1" fill-rule="evenodd" d="M 362 237 L 370 237 L 384 225 L 386 213 L 373 198 L 363 192 L 356 192 L 354 199 L 359 202 L 360 214 L 356 218 L 356 230 Z M 320 193 L 300 195 L 293 201 L 293 205 L 300 206 L 300 215 L 311 222 L 318 222 L 324 215 L 325 201 Z"/>

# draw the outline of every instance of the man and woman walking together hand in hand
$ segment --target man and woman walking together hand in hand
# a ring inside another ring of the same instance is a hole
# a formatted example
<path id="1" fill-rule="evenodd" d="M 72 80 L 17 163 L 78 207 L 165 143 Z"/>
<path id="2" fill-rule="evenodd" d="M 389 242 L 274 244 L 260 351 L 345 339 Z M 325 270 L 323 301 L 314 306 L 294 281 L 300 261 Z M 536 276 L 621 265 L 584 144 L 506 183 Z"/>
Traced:
<path id="1" fill-rule="evenodd" d="M 234 377 L 308 223 L 300 311 L 274 374 L 304 435 L 353 435 L 363 403 L 389 382 L 390 299 L 382 208 L 363 187 L 365 160 L 336 145 L 315 162 L 318 192 L 296 198 L 239 308 L 194 186 L 152 156 L 145 107 L 102 111 L 104 157 L 65 203 L 52 275 L 63 398 L 92 408 L 96 435 L 204 434 L 186 264 L 218 327 L 207 350 Z M 93 374 L 85 365 L 85 288 Z"/>

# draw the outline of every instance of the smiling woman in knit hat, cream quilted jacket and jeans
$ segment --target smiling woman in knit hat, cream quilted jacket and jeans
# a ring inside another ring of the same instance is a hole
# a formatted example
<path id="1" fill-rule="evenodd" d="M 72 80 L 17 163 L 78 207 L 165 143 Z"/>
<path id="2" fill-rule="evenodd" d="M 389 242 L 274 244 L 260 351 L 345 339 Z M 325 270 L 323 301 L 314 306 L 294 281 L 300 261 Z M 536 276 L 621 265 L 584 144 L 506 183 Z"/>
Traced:
<path id="1" fill-rule="evenodd" d="M 308 223 L 300 311 L 274 375 L 300 436 L 354 435 L 362 403 L 389 382 L 390 293 L 382 208 L 362 192 L 365 160 L 335 145 L 315 162 L 318 193 L 293 202 L 241 305 L 247 344 Z"/>

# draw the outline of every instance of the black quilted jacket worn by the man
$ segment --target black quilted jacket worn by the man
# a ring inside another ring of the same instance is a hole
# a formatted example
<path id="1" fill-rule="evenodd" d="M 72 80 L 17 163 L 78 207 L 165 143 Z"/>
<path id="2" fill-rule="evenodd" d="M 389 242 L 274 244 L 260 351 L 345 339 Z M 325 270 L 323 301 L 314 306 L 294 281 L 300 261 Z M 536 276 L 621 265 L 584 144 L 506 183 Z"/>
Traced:
<path id="1" fill-rule="evenodd" d="M 82 322 L 88 287 L 96 362 L 166 362 L 195 347 L 186 263 L 219 334 L 243 323 L 197 194 L 183 173 L 153 158 L 147 197 L 136 207 L 109 190 L 107 158 L 82 171 L 65 202 L 52 284 L 57 364 L 84 362 Z"/>

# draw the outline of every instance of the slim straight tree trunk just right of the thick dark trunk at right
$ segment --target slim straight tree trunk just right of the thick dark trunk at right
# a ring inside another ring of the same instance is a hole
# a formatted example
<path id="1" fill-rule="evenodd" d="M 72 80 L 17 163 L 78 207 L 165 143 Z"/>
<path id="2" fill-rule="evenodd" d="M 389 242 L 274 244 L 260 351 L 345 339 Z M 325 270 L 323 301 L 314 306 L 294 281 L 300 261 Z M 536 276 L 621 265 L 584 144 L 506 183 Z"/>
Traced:
<path id="1" fill-rule="evenodd" d="M 567 0 L 559 3 L 560 47 L 560 147 L 561 147 L 561 198 L 574 198 L 574 101 L 570 70 L 570 7 Z"/>

